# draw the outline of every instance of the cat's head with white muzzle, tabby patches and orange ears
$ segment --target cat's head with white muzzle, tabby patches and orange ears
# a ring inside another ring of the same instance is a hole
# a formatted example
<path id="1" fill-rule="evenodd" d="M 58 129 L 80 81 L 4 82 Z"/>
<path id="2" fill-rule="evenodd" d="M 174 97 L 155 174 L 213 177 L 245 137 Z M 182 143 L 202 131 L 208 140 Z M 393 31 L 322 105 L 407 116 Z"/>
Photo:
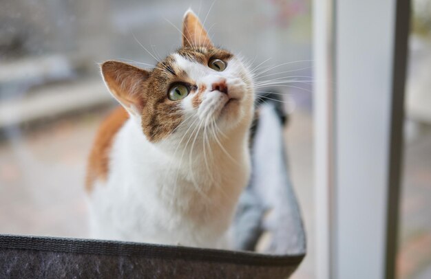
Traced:
<path id="1" fill-rule="evenodd" d="M 227 133 L 251 122 L 251 74 L 238 57 L 211 43 L 191 10 L 183 20 L 182 47 L 154 69 L 112 60 L 101 69 L 109 91 L 150 142 L 215 125 Z"/>

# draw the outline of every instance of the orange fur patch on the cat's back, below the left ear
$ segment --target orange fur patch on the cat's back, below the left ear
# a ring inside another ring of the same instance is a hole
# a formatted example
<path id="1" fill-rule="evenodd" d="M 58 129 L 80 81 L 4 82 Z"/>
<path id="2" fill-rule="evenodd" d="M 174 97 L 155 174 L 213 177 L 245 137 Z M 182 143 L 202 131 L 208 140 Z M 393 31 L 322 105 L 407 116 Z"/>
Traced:
<path id="1" fill-rule="evenodd" d="M 125 109 L 118 107 L 108 115 L 98 129 L 88 160 L 87 177 L 85 180 L 85 189 L 87 192 L 92 190 L 96 179 L 105 180 L 107 178 L 109 153 L 112 148 L 113 139 L 128 118 L 129 114 Z"/>

